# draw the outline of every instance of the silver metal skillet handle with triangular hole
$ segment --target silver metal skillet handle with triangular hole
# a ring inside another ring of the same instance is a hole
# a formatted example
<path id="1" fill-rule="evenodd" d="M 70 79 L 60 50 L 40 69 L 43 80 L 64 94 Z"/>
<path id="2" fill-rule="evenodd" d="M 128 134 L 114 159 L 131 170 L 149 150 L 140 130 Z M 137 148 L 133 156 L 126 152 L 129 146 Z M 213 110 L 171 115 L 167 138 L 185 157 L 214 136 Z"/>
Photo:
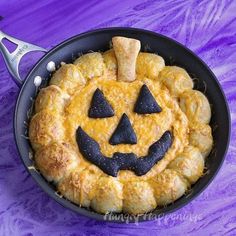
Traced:
<path id="1" fill-rule="evenodd" d="M 4 38 L 17 45 L 14 52 L 10 53 L 5 47 L 2 42 Z M 26 53 L 33 51 L 47 52 L 44 48 L 13 38 L 0 30 L 0 52 L 3 55 L 8 71 L 12 75 L 16 84 L 19 86 L 23 84 L 23 79 L 19 75 L 20 61 Z"/>

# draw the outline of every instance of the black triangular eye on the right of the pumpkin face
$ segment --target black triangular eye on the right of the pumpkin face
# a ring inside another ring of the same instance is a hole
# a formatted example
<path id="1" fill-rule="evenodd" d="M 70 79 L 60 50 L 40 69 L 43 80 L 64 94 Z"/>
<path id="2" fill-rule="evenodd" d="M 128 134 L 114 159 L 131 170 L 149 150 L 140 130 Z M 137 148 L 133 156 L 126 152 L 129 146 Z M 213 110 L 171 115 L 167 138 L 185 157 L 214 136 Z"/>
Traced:
<path id="1" fill-rule="evenodd" d="M 147 85 L 140 89 L 138 99 L 134 106 L 134 112 L 138 114 L 151 114 L 161 112 L 161 107 L 157 104 Z"/>

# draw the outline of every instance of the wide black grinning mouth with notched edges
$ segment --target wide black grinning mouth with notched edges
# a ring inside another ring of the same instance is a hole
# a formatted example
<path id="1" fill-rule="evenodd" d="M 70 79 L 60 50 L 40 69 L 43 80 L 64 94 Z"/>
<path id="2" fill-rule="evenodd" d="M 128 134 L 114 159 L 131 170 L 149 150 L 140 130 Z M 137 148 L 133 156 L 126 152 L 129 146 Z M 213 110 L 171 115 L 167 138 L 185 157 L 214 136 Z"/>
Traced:
<path id="1" fill-rule="evenodd" d="M 115 152 L 112 157 L 106 157 L 101 153 L 100 145 L 81 127 L 76 130 L 76 141 L 83 157 L 106 174 L 116 177 L 120 170 L 131 170 L 137 176 L 142 176 L 165 156 L 173 143 L 173 136 L 170 131 L 166 131 L 149 147 L 148 154 L 142 157 L 132 152 Z"/>

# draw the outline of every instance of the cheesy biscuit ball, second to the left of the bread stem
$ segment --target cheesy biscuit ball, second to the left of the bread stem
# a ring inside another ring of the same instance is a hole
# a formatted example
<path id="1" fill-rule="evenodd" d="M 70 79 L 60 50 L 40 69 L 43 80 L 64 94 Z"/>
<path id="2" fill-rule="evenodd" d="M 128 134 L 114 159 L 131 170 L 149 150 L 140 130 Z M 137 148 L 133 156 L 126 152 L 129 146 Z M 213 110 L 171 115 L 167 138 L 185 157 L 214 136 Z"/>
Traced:
<path id="1" fill-rule="evenodd" d="M 99 52 L 87 53 L 79 57 L 74 64 L 87 79 L 102 76 L 105 70 L 105 64 L 102 54 Z"/>

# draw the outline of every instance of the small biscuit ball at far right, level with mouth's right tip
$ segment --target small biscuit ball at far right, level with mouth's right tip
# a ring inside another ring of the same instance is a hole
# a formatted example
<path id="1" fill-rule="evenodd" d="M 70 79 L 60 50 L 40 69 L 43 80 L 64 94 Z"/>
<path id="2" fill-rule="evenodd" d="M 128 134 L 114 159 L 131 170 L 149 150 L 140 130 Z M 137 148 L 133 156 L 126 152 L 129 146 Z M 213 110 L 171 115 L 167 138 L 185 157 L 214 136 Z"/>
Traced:
<path id="1" fill-rule="evenodd" d="M 202 123 L 194 123 L 190 127 L 189 144 L 197 147 L 205 158 L 213 146 L 211 127 Z"/>

